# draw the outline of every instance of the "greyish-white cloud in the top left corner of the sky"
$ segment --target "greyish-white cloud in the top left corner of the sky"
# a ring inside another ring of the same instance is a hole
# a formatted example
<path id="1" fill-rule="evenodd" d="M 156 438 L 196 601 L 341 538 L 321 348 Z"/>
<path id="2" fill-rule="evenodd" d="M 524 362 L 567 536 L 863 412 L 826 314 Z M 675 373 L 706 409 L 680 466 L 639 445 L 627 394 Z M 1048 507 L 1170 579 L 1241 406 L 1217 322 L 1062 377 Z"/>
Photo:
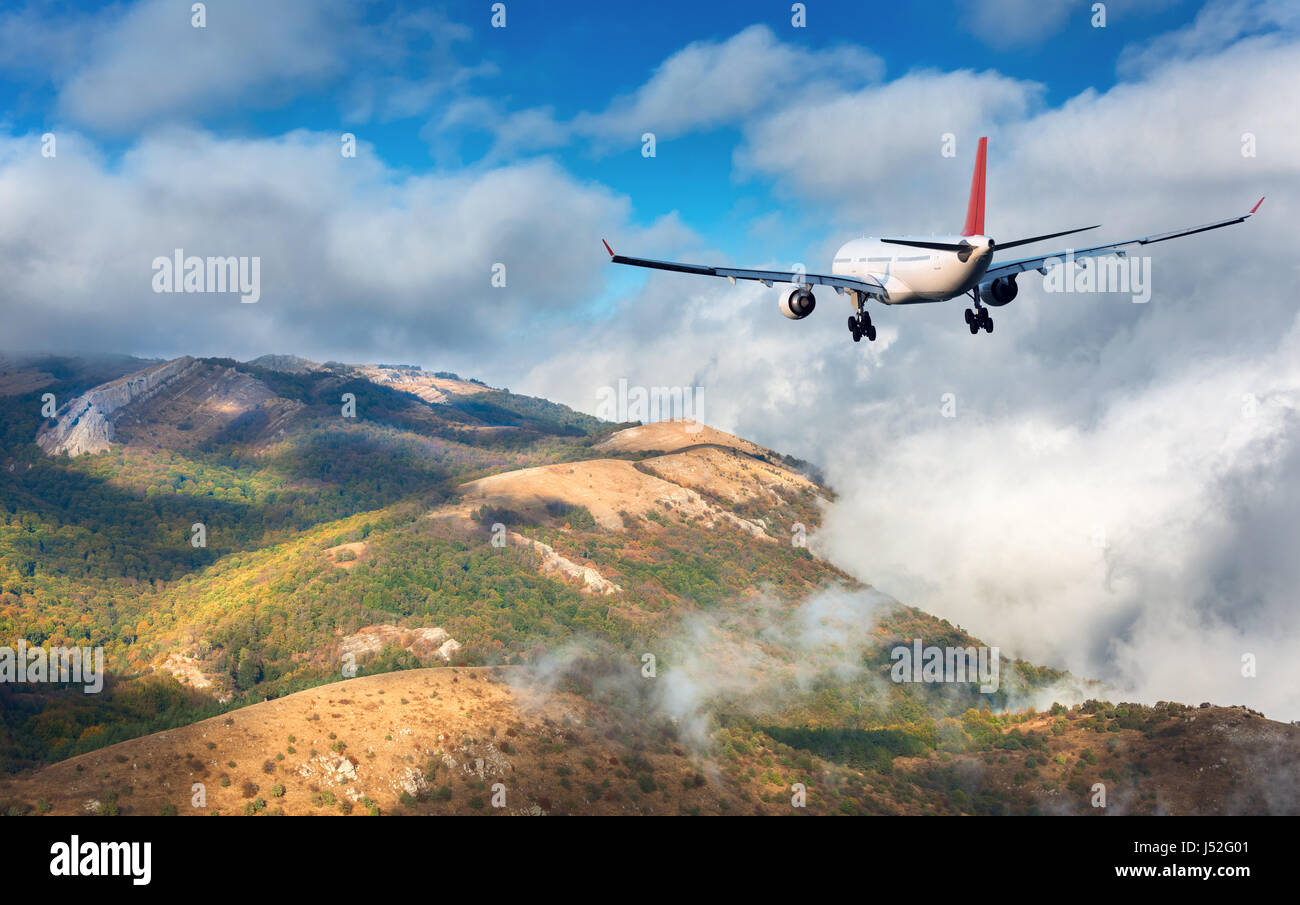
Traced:
<path id="1" fill-rule="evenodd" d="M 0 13 L 0 66 L 57 91 L 57 113 L 109 135 L 274 109 L 339 86 L 348 122 L 425 116 L 495 66 L 462 65 L 467 26 L 436 10 L 364 20 L 346 0 L 224 0 L 194 27 L 190 4 L 140 0 L 53 16 Z"/>

